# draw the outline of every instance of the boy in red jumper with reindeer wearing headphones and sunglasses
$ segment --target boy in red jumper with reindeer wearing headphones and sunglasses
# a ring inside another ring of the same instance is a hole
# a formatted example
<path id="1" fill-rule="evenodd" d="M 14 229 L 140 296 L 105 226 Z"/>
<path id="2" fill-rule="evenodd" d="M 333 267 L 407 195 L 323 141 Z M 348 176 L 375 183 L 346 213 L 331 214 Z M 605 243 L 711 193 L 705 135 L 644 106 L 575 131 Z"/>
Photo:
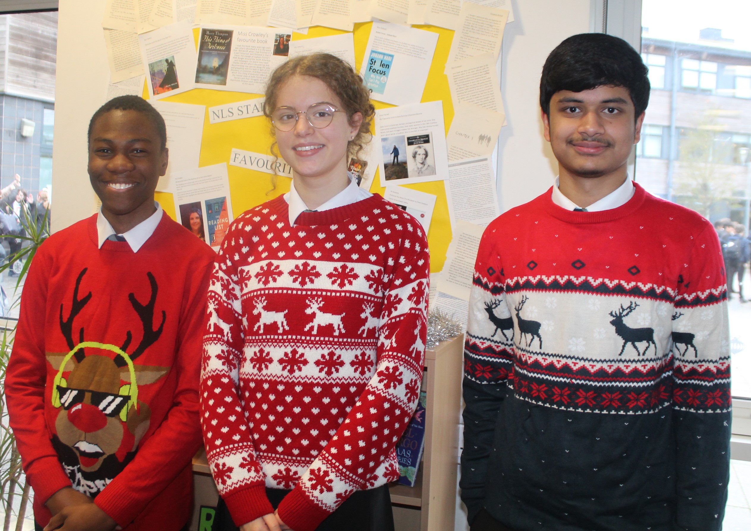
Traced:
<path id="1" fill-rule="evenodd" d="M 165 144 L 143 99 L 104 104 L 89 124 L 101 210 L 29 268 L 5 391 L 37 529 L 168 531 L 190 514 L 214 253 L 154 201 Z"/>

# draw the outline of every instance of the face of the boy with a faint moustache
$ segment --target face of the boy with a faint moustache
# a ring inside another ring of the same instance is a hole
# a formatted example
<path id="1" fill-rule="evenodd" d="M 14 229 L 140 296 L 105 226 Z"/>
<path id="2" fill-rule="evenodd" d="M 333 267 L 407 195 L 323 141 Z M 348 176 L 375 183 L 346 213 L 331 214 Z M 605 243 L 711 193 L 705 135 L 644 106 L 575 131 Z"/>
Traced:
<path id="1" fill-rule="evenodd" d="M 638 119 L 634 113 L 629 91 L 622 86 L 556 92 L 550 99 L 550 116 L 542 113 L 542 121 L 561 176 L 626 176 L 644 120 L 644 113 Z"/>

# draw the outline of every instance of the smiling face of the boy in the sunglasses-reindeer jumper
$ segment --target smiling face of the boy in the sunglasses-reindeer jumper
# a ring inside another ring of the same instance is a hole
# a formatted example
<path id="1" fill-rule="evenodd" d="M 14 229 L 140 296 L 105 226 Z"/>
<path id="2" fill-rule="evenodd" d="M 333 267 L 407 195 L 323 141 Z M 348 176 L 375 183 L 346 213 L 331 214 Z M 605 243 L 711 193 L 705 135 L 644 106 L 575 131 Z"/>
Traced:
<path id="1" fill-rule="evenodd" d="M 122 233 L 154 213 L 154 191 L 167 171 L 167 149 L 153 122 L 137 110 L 111 110 L 92 126 L 89 180 L 101 210 Z"/>

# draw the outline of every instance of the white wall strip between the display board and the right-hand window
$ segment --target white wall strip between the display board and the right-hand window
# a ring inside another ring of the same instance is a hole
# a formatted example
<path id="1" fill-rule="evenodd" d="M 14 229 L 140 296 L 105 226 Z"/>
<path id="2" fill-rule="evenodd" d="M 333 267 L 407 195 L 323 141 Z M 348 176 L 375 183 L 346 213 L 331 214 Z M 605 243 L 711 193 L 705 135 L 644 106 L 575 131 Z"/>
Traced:
<path id="1" fill-rule="evenodd" d="M 558 163 L 544 137 L 539 86 L 547 54 L 560 41 L 590 31 L 590 0 L 512 0 L 514 22 L 503 36 L 501 92 L 508 125 L 499 135 L 501 210 L 550 188 Z"/>

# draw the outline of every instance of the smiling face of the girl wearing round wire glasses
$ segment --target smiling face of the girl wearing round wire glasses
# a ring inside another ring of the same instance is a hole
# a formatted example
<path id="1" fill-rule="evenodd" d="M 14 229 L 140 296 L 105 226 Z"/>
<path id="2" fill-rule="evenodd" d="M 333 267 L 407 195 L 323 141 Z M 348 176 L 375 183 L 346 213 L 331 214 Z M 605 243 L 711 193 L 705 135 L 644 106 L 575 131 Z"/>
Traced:
<path id="1" fill-rule="evenodd" d="M 279 89 L 276 107 L 292 112 L 307 110 L 312 104 L 327 103 L 336 109 L 342 104 L 326 84 L 315 77 L 290 77 Z M 294 175 L 302 179 L 339 180 L 347 171 L 347 143 L 357 134 L 362 115 L 354 113 L 350 123 L 345 112 L 334 113 L 331 123 L 316 129 L 304 113 L 291 131 L 276 131 L 276 143 L 282 158 Z"/>

